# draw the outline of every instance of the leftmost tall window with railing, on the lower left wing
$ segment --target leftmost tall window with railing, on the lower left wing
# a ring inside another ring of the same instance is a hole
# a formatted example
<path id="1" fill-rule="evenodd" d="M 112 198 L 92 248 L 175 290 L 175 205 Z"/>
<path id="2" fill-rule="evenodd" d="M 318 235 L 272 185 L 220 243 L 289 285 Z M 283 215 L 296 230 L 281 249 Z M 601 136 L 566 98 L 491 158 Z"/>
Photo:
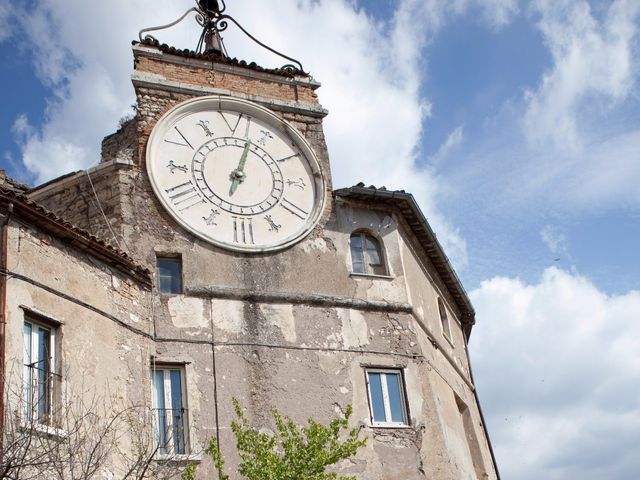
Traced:
<path id="1" fill-rule="evenodd" d="M 55 373 L 56 329 L 25 320 L 23 327 L 25 421 L 51 425 L 60 375 Z"/>

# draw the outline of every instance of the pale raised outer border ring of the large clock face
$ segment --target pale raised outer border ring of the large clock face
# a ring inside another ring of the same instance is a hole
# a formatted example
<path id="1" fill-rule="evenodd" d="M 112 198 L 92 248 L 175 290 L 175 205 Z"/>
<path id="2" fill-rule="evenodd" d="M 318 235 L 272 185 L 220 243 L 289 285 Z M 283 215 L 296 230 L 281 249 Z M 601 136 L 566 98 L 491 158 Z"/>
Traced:
<path id="1" fill-rule="evenodd" d="M 283 133 L 287 138 L 291 140 L 292 144 L 301 151 L 310 168 L 311 178 L 313 179 L 314 183 L 313 210 L 302 228 L 294 231 L 291 235 L 273 245 L 237 245 L 235 243 L 213 238 L 199 231 L 173 210 L 171 204 L 167 199 L 164 198 L 162 194 L 162 187 L 158 185 L 156 181 L 157 169 L 161 167 L 157 165 L 156 162 L 154 162 L 154 156 L 157 155 L 158 148 L 161 148 L 163 136 L 172 127 L 172 125 L 175 125 L 181 119 L 189 115 L 193 115 L 198 112 L 212 111 L 235 111 L 238 113 L 249 115 L 252 118 L 262 120 L 263 122 L 267 123 L 270 128 Z M 163 205 L 164 210 L 181 227 L 183 227 L 191 234 L 199 237 L 207 243 L 216 245 L 223 249 L 242 253 L 274 252 L 283 250 L 300 242 L 306 236 L 308 236 L 320 221 L 320 218 L 322 217 L 322 214 L 325 210 L 327 202 L 326 180 L 323 171 L 320 168 L 320 162 L 306 138 L 287 120 L 279 117 L 267 107 L 251 102 L 249 100 L 226 95 L 208 95 L 191 98 L 184 102 L 178 103 L 177 105 L 171 107 L 167 112 L 165 112 L 156 122 L 147 140 L 145 150 L 145 167 L 148 173 L 148 178 L 150 180 L 152 189 L 154 190 L 155 196 Z"/>

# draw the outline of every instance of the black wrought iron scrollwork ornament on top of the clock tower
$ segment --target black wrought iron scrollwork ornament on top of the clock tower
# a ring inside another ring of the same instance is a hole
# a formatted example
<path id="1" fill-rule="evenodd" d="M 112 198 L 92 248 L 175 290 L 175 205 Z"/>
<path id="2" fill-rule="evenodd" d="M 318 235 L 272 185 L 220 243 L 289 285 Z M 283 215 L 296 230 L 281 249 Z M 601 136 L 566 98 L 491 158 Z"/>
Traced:
<path id="1" fill-rule="evenodd" d="M 174 22 L 158 27 L 144 28 L 140 30 L 140 32 L 138 33 L 140 41 L 144 42 L 145 40 L 152 40 L 158 42 L 158 40 L 153 35 L 148 34 L 148 32 L 155 32 L 158 30 L 171 28 L 184 20 L 191 12 L 194 12 L 196 22 L 198 22 L 198 25 L 202 27 L 202 34 L 200 35 L 200 39 L 198 40 L 198 44 L 196 46 L 196 53 L 214 53 L 223 55 L 228 58 L 229 55 L 227 53 L 227 49 L 224 46 L 224 42 L 222 41 L 222 37 L 220 36 L 220 32 L 224 32 L 229 27 L 229 21 L 231 21 L 242 31 L 242 33 L 253 40 L 253 42 L 257 43 L 262 48 L 269 50 L 271 53 L 274 53 L 279 57 L 292 62 L 283 65 L 281 67 L 281 70 L 290 72 L 300 71 L 303 74 L 306 74 L 304 68 L 302 67 L 302 63 L 300 63 L 298 60 L 280 53 L 277 50 L 269 47 L 268 45 L 265 45 L 256 37 L 251 35 L 247 30 L 245 30 L 242 25 L 240 25 L 231 15 L 225 14 L 224 11 L 227 9 L 227 6 L 224 0 L 197 0 L 196 3 L 196 7 L 191 7 Z M 143 36 L 143 34 L 146 35 Z"/>

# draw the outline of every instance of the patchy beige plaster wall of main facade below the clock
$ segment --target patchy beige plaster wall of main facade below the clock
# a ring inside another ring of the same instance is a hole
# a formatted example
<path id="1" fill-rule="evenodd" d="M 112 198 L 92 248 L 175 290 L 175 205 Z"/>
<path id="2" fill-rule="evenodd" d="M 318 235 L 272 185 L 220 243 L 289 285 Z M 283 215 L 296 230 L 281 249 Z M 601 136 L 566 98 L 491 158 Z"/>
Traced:
<path id="1" fill-rule="evenodd" d="M 156 252 L 179 252 L 183 259 L 186 294 L 156 297 L 154 311 L 157 334 L 166 340 L 158 347 L 158 359 L 189 362 L 197 378 L 195 390 L 188 392 L 197 430 L 194 445 L 201 446 L 213 433 L 214 381 L 224 452 L 233 458 L 228 430 L 232 397 L 239 398 L 248 416 L 265 428 L 271 427 L 267 413 L 273 406 L 304 421 L 328 420 L 352 404 L 355 419 L 369 425 L 363 366 L 402 367 L 411 426 L 365 428 L 369 446 L 345 472 L 366 479 L 495 478 L 456 310 L 449 307 L 452 345 L 442 335 L 437 311 L 439 295 L 450 299 L 407 244 L 411 234 L 402 230 L 393 211 L 341 202 L 334 212 L 321 235 L 312 234 L 271 255 L 220 252 L 170 224 L 162 225 L 160 211 L 158 216 L 147 214 L 150 224 L 137 230 L 132 244 L 153 243 Z M 382 240 L 387 277 L 350 273 L 349 236 L 361 228 Z M 154 257 L 151 250 L 147 255 Z M 283 295 L 280 302 L 237 299 L 243 292 Z M 415 312 L 320 308 L 313 305 L 318 294 L 411 303 Z M 483 452 L 478 472 L 487 477 L 475 476 L 473 445 L 467 441 L 456 397 L 470 411 L 471 428 Z M 207 465 L 202 466 L 205 472 Z"/>

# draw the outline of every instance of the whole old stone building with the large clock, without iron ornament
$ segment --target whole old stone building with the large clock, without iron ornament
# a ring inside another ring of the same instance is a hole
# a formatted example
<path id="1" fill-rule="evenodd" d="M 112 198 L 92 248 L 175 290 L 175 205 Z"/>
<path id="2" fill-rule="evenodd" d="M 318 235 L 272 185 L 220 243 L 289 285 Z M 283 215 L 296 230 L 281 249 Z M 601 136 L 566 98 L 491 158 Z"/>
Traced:
<path id="1" fill-rule="evenodd" d="M 320 84 L 154 40 L 133 57 L 137 114 L 97 167 L 2 179 L 5 422 L 65 435 L 55 407 L 91 392 L 150 412 L 153 462 L 214 478 L 232 398 L 265 428 L 351 404 L 369 441 L 345 474 L 497 478 L 469 298 L 410 194 L 333 190 Z"/>

